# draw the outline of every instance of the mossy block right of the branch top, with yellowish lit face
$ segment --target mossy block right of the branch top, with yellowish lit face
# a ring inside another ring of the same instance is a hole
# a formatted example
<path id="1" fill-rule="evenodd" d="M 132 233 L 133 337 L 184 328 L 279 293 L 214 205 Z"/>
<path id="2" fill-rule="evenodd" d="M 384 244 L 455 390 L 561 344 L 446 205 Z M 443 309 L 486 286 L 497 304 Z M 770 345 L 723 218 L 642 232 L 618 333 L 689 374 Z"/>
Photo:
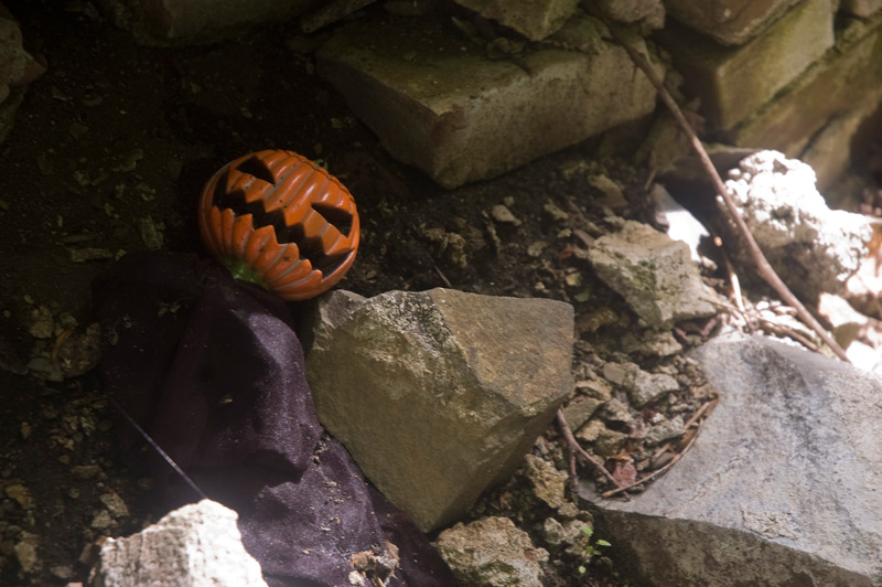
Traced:
<path id="1" fill-rule="evenodd" d="M 747 118 L 833 44 L 830 0 L 806 0 L 761 36 L 724 47 L 684 26 L 668 25 L 659 42 L 701 98 L 709 121 L 729 129 Z"/>

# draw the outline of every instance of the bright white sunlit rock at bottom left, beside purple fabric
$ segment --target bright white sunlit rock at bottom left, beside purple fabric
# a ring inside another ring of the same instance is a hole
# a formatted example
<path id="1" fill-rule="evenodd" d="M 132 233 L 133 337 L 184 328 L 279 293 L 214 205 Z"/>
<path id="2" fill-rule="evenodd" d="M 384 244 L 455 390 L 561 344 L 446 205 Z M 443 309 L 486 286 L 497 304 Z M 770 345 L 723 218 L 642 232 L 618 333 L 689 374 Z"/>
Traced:
<path id="1" fill-rule="evenodd" d="M 94 587 L 266 587 L 241 545 L 238 515 L 203 500 L 162 516 L 127 538 L 108 538 Z"/>

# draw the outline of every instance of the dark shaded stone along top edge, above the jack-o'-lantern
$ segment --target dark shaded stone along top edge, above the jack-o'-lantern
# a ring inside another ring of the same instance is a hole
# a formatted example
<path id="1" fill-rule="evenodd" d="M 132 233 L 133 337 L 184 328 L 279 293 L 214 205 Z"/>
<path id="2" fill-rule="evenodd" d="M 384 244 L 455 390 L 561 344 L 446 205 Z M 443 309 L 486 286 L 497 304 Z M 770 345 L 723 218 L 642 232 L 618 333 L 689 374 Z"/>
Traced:
<path id="1" fill-rule="evenodd" d="M 144 44 L 206 43 L 268 21 L 282 21 L 319 0 L 97 0 L 117 26 Z"/>

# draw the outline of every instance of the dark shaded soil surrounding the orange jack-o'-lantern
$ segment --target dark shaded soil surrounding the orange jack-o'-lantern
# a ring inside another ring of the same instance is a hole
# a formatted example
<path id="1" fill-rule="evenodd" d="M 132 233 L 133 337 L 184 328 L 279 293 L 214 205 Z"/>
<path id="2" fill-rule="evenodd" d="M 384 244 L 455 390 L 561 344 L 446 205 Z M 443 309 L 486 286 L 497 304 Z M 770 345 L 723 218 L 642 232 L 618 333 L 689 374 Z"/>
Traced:
<path id="1" fill-rule="evenodd" d="M 114 258 L 202 250 L 196 199 L 240 154 L 292 149 L 323 160 L 348 186 L 363 235 L 343 288 L 372 296 L 442 286 L 566 300 L 577 309 L 580 360 L 617 352 L 612 341 L 634 330 L 582 253 L 605 230 L 609 206 L 642 215 L 648 171 L 595 153 L 631 150 L 627 139 L 648 120 L 448 192 L 386 154 L 315 74 L 314 40 L 283 26 L 151 49 L 88 3 L 8 8 L 47 71 L 0 145 L 0 585 L 84 581 L 89 545 L 155 520 L 149 480 L 118 457 L 112 409 L 86 370 L 90 355 L 61 374 L 58 357 L 68 340 L 86 351 L 94 342 L 84 333 L 89 287 Z M 623 185 L 626 201 L 592 186 L 587 178 L 598 173 Z M 498 204 L 516 222 L 494 217 Z M 551 447 L 545 456 L 560 455 Z M 504 513 L 518 515 L 517 500 L 506 503 Z M 548 579 L 606 584 L 620 583 L 604 562 Z"/>

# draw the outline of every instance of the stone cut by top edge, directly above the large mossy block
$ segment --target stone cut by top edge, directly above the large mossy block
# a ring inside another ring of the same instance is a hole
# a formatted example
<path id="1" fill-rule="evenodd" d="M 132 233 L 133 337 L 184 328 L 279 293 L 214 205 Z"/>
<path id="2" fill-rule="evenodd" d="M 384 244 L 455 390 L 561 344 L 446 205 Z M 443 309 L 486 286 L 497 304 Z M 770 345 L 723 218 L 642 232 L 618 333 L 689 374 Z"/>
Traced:
<path id="1" fill-rule="evenodd" d="M 531 41 L 541 41 L 567 22 L 579 0 L 455 0 L 485 19 L 516 30 Z"/>

